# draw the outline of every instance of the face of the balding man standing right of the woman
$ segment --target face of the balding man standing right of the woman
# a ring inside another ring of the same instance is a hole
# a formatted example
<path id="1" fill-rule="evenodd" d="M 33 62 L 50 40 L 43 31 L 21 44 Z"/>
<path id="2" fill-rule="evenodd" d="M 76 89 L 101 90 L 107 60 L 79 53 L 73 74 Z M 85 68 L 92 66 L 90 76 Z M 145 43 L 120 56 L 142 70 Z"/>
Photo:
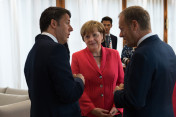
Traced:
<path id="1" fill-rule="evenodd" d="M 126 44 L 128 47 L 135 47 L 136 42 L 136 35 L 135 31 L 133 30 L 132 25 L 128 25 L 125 22 L 124 15 L 119 16 L 119 29 L 120 29 L 120 37 L 123 37 L 123 39 L 126 41 Z"/>

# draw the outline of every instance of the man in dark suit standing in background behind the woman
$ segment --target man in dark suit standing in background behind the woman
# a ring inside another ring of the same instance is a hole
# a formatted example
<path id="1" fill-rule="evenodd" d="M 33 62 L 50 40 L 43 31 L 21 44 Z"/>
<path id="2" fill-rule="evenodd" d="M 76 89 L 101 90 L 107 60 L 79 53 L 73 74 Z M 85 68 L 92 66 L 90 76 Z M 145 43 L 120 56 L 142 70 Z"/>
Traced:
<path id="1" fill-rule="evenodd" d="M 103 47 L 108 47 L 111 49 L 117 49 L 117 37 L 110 34 L 110 29 L 112 28 L 112 19 L 108 16 L 103 17 L 101 23 L 105 27 L 105 40 L 102 42 Z"/>

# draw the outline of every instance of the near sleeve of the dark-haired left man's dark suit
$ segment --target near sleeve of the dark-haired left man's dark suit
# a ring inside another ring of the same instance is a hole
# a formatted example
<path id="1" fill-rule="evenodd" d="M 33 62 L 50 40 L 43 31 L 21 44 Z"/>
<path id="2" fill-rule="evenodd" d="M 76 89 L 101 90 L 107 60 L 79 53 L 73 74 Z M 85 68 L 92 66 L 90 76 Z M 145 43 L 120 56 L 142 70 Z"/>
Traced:
<path id="1" fill-rule="evenodd" d="M 64 46 L 54 47 L 48 60 L 48 68 L 58 100 L 62 103 L 78 101 L 83 93 L 84 84 L 80 78 L 73 78 Z"/>

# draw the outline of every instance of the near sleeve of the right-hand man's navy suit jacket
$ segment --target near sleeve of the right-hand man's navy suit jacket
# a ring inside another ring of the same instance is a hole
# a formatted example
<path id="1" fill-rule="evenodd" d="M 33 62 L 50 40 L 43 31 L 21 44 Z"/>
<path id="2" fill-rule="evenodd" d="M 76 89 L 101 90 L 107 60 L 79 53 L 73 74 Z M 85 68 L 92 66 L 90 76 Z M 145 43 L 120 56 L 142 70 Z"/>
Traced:
<path id="1" fill-rule="evenodd" d="M 150 60 L 145 56 L 139 53 L 133 55 L 127 67 L 124 90 L 116 91 L 114 94 L 116 107 L 139 109 L 145 106 L 151 85 L 152 68 Z"/>

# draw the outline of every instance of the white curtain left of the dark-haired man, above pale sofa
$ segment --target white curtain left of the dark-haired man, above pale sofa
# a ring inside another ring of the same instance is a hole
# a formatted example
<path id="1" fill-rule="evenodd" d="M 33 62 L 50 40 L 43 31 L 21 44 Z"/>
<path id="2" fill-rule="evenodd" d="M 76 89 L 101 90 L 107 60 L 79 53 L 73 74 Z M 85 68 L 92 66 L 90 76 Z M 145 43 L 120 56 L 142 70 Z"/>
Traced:
<path id="1" fill-rule="evenodd" d="M 27 88 L 24 63 L 49 6 L 56 0 L 0 0 L 0 87 Z"/>

